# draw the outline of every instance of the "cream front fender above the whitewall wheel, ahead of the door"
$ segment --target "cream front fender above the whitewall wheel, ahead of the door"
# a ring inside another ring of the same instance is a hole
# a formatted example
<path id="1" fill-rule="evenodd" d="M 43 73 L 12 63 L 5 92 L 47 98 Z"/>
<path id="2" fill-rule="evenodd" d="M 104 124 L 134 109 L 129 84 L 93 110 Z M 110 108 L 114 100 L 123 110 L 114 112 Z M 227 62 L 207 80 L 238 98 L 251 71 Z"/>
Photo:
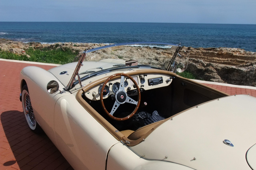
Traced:
<path id="1" fill-rule="evenodd" d="M 63 91 L 62 94 L 60 91 L 53 94 L 50 94 L 47 91 L 47 84 L 51 80 L 58 82 L 59 89 Z M 21 84 L 24 84 L 23 81 L 26 81 L 37 123 L 41 126 L 52 142 L 56 144 L 54 135 L 55 103 L 60 97 L 70 93 L 63 90 L 64 86 L 53 74 L 36 66 L 23 68 L 20 75 L 20 81 Z"/>

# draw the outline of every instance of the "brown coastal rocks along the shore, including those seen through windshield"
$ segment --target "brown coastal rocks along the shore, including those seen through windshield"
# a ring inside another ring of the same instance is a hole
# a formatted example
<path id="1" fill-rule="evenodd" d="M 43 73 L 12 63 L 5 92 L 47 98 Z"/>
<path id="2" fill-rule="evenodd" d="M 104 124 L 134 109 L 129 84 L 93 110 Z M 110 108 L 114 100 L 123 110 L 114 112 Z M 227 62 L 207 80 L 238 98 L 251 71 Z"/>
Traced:
<path id="1" fill-rule="evenodd" d="M 86 49 L 91 49 L 99 46 L 104 46 L 107 44 L 103 43 L 73 43 L 73 42 L 57 42 L 53 44 L 41 44 L 39 42 L 14 42 L 11 40 L 0 39 L 0 48 L 5 51 L 16 51 L 16 48 L 21 50 L 33 47 L 35 49 L 41 48 L 71 48 L 74 51 L 79 51 L 79 55 L 74 59 L 77 61 L 82 52 Z M 240 48 L 192 48 L 183 46 L 182 49 L 190 51 L 189 62 L 187 70 L 193 73 L 197 79 L 202 79 L 206 81 L 214 81 L 221 83 L 237 84 L 237 85 L 247 85 L 256 86 L 256 52 L 245 51 Z M 136 52 L 134 50 L 137 50 Z M 139 51 L 147 50 L 147 51 Z M 91 56 L 87 56 L 85 60 L 101 60 L 106 58 L 104 54 L 108 54 L 110 58 L 116 59 L 132 59 L 131 56 L 137 58 L 140 64 L 152 64 L 158 65 L 166 68 L 170 57 L 173 52 L 162 52 L 162 56 L 158 57 L 157 53 L 148 49 L 138 49 L 132 47 L 127 47 L 125 53 L 122 56 L 114 54 L 113 51 L 108 51 L 107 49 L 102 51 L 102 55 L 96 55 L 96 53 Z M 20 51 L 20 50 L 18 50 Z M 148 53 L 144 57 L 143 53 Z M 15 52 L 22 54 L 23 51 Z M 134 56 L 136 54 L 136 56 Z"/>

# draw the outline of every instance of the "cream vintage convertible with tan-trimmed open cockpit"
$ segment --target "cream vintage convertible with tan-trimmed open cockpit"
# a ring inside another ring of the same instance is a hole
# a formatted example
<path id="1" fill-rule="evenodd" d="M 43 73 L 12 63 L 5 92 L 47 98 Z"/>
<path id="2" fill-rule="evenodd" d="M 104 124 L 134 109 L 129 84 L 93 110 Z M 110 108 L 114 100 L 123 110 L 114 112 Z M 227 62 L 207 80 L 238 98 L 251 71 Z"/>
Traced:
<path id="1" fill-rule="evenodd" d="M 177 75 L 188 57 L 180 44 L 122 43 L 25 67 L 27 123 L 76 170 L 256 170 L 256 99 Z"/>

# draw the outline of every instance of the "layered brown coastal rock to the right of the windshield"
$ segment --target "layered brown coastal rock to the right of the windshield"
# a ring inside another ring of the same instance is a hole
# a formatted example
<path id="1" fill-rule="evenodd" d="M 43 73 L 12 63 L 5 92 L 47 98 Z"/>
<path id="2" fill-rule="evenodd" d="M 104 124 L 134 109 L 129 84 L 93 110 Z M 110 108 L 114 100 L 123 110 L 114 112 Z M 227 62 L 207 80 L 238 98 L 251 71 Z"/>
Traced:
<path id="1" fill-rule="evenodd" d="M 206 81 L 256 86 L 256 53 L 239 48 L 192 48 L 187 70 Z"/>

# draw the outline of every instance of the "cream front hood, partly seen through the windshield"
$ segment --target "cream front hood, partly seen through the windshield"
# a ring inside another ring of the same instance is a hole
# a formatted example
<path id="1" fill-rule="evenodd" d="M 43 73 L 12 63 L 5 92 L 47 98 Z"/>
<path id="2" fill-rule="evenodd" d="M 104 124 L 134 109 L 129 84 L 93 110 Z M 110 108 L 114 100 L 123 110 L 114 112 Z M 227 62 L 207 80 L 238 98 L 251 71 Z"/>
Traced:
<path id="1" fill-rule="evenodd" d="M 99 71 L 98 67 L 102 67 L 102 69 L 107 69 L 113 67 L 115 64 L 124 63 L 124 60 L 118 60 L 118 59 L 103 59 L 101 61 L 84 61 L 83 66 L 80 68 L 79 73 L 82 73 L 84 71 Z M 77 66 L 77 62 L 72 62 L 64 65 L 60 65 L 58 67 L 54 67 L 50 70 L 51 72 L 64 86 L 67 86 L 69 83 L 74 70 Z M 98 68 L 98 69 L 97 69 Z M 61 72 L 66 71 L 65 74 L 61 74 Z M 82 74 L 80 77 L 82 78 L 87 74 Z"/>

